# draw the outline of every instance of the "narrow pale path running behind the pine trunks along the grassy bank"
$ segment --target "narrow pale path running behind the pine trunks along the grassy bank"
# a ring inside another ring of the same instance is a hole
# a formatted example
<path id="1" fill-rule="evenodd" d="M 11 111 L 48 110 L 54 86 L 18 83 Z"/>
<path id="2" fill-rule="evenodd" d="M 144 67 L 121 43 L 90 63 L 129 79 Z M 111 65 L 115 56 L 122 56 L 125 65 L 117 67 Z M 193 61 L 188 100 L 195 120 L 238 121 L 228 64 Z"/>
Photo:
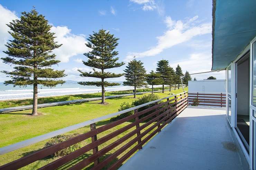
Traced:
<path id="1" fill-rule="evenodd" d="M 157 90 L 154 92 L 160 92 L 162 90 Z M 165 90 L 167 91 L 167 90 Z M 144 94 L 149 92 L 138 92 L 136 94 Z M 105 99 L 111 99 L 111 98 L 118 98 L 118 97 L 125 97 L 125 96 L 133 96 L 133 93 L 130 94 L 119 94 L 115 96 L 106 96 Z M 59 102 L 52 102 L 52 103 L 43 103 L 38 104 L 37 108 L 44 108 L 44 107 L 50 107 L 50 106 L 58 106 L 63 104 L 73 104 L 73 103 L 81 103 L 81 102 L 88 102 L 88 101 L 95 101 L 95 100 L 101 100 L 101 97 L 95 97 L 95 98 L 88 98 L 88 99 L 78 99 L 78 100 L 69 100 L 69 101 L 59 101 Z M 6 112 L 12 112 L 12 111 L 20 111 L 20 110 L 28 110 L 32 109 L 33 105 L 26 105 L 26 106 L 17 106 L 17 107 L 11 107 L 11 108 L 3 108 L 0 109 L 0 113 L 6 113 Z"/>

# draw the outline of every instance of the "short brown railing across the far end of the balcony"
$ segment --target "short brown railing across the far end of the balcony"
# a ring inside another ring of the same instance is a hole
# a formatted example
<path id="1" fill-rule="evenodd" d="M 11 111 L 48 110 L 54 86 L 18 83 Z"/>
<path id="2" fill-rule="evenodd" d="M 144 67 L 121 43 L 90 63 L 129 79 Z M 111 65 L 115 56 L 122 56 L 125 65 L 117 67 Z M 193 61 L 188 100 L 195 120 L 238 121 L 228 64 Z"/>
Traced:
<path id="1" fill-rule="evenodd" d="M 188 95 L 191 106 L 226 107 L 225 93 L 189 92 Z"/>

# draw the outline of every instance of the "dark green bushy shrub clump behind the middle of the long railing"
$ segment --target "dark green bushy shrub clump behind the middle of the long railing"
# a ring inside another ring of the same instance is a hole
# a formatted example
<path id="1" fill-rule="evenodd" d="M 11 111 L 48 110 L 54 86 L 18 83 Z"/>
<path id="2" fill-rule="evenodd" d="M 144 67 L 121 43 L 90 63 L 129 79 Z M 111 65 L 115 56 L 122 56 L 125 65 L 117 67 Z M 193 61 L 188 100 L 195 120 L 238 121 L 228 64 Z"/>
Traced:
<path id="1" fill-rule="evenodd" d="M 157 94 L 148 94 L 148 95 L 144 95 L 143 97 L 140 97 L 138 98 L 137 100 L 133 101 L 131 104 L 129 104 L 128 102 L 124 102 L 120 105 L 120 108 L 118 109 L 118 111 L 121 111 L 121 110 L 126 110 L 126 109 L 129 109 L 129 108 L 132 108 L 134 106 L 139 106 L 141 104 L 145 104 L 145 103 L 148 103 L 150 101 L 154 101 L 154 100 L 157 100 L 159 99 L 159 97 L 157 96 Z M 155 105 L 155 103 L 152 103 L 152 104 L 149 104 L 147 106 L 144 106 L 144 107 L 141 107 L 138 109 L 138 111 L 142 111 L 142 110 L 145 110 L 147 108 L 150 108 L 150 107 L 153 107 Z M 149 111 L 148 113 L 146 114 L 143 114 L 141 116 L 139 116 L 139 118 L 143 118 L 145 116 L 147 116 L 148 114 L 154 112 L 155 110 L 153 109 L 152 111 Z M 134 111 L 130 111 L 130 112 L 127 112 L 127 113 L 123 113 L 123 114 L 120 114 L 116 117 L 113 117 L 110 119 L 110 121 L 116 121 L 116 120 L 119 120 L 119 119 L 122 119 L 122 118 L 125 118 L 127 116 L 130 116 L 134 114 Z M 152 119 L 152 118 L 150 118 Z M 150 119 L 147 119 L 146 121 L 150 120 Z M 133 121 L 133 120 L 131 120 Z"/>

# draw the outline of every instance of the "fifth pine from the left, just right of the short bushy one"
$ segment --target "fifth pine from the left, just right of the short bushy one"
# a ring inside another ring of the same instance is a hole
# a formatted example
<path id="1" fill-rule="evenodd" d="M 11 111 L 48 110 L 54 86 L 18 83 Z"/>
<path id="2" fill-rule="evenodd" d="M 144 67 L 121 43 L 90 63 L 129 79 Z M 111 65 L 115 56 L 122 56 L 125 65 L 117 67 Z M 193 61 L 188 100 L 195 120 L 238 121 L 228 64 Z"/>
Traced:
<path id="1" fill-rule="evenodd" d="M 157 68 L 156 68 L 157 73 L 161 74 L 161 79 L 162 81 L 162 92 L 164 93 L 164 85 L 168 84 L 169 80 L 169 75 L 171 74 L 170 72 L 170 66 L 168 60 L 160 60 L 157 62 Z"/>

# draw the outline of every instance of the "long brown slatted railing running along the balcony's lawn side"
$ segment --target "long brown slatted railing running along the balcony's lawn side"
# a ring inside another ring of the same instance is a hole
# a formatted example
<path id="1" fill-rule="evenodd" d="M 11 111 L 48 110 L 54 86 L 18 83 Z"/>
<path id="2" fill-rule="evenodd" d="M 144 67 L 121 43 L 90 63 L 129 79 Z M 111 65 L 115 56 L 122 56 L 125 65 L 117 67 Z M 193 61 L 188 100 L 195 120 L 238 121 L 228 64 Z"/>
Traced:
<path id="1" fill-rule="evenodd" d="M 164 101 L 164 99 L 167 99 L 167 101 Z M 72 146 L 73 144 L 79 143 L 88 138 L 91 138 L 91 143 L 41 167 L 40 169 L 56 169 L 82 156 L 83 154 L 91 150 L 93 151 L 93 154 L 83 159 L 82 161 L 76 163 L 70 169 L 82 169 L 88 166 L 89 164 L 91 164 L 92 162 L 94 162 L 94 166 L 92 167 L 92 169 L 102 169 L 106 166 L 109 166 L 108 169 L 117 169 L 122 164 L 122 162 L 128 159 L 138 149 L 142 149 L 143 145 L 149 139 L 151 139 L 157 132 L 160 132 L 161 129 L 167 123 L 171 122 L 177 115 L 179 115 L 179 113 L 181 113 L 188 106 L 188 94 L 186 94 L 186 92 L 176 94 L 164 99 L 156 100 L 140 106 L 136 106 L 134 108 L 127 109 L 122 113 L 131 111 L 133 109 L 134 114 L 98 128 L 96 127 L 96 124 L 94 122 L 90 124 L 91 130 L 89 132 L 80 134 L 79 136 L 76 136 L 74 138 L 55 144 L 51 147 L 41 149 L 25 157 L 22 157 L 18 160 L 7 163 L 1 166 L 0 170 L 19 169 L 21 167 L 27 166 L 30 163 L 43 159 L 57 151 L 60 151 L 64 148 Z M 141 108 L 144 106 L 151 106 L 151 107 L 145 110 L 141 110 Z M 138 111 L 138 109 L 140 109 L 141 111 Z M 113 115 L 117 115 L 117 114 L 113 114 Z M 147 122 L 140 126 L 139 123 L 145 122 L 146 120 Z M 104 137 L 101 137 L 100 139 L 97 139 L 97 134 L 107 131 L 113 127 L 117 127 L 118 125 L 127 121 L 131 121 L 131 123 L 128 124 L 127 126 L 124 126 L 116 131 L 113 131 L 107 134 Z M 117 137 L 119 134 L 133 127 L 136 127 L 136 129 L 129 132 L 125 136 L 122 136 L 115 142 L 108 144 L 103 149 L 101 150 L 98 149 L 99 145 L 109 141 L 110 139 L 113 139 L 114 137 Z M 141 132 L 145 128 L 147 129 Z M 131 137 L 134 137 L 134 138 L 130 139 Z M 103 159 L 102 161 L 99 160 L 99 158 L 104 156 L 113 148 L 118 147 L 123 142 L 124 143 L 127 142 L 127 143 L 125 143 L 115 152 L 110 154 L 110 156 L 108 156 L 106 159 Z M 137 144 L 134 146 L 135 143 Z M 126 153 L 121 158 L 117 159 L 117 157 L 125 151 Z M 116 160 L 116 161 L 113 163 L 113 160 Z M 112 162 L 111 165 L 109 165 L 110 162 Z"/>

